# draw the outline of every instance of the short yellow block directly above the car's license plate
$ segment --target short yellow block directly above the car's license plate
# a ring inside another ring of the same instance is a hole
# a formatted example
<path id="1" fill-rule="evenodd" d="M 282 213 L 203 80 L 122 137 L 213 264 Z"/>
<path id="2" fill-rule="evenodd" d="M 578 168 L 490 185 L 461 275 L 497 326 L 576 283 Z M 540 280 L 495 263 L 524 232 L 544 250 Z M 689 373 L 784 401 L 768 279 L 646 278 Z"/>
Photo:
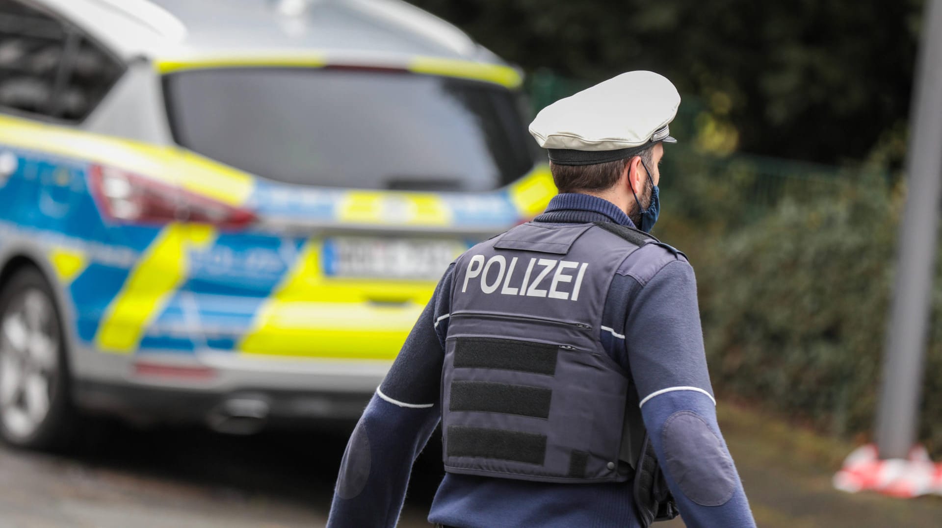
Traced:
<path id="1" fill-rule="evenodd" d="M 451 212 L 434 194 L 349 191 L 337 207 L 337 221 L 445 226 Z"/>

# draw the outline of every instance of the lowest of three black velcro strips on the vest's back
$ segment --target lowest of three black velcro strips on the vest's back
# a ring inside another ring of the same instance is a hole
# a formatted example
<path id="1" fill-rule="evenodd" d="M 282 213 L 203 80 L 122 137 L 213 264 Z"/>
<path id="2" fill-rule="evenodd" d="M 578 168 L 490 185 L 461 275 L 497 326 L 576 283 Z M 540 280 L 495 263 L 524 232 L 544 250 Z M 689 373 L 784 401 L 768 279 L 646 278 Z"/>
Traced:
<path id="1" fill-rule="evenodd" d="M 546 435 L 449 425 L 447 456 L 478 456 L 542 466 Z"/>

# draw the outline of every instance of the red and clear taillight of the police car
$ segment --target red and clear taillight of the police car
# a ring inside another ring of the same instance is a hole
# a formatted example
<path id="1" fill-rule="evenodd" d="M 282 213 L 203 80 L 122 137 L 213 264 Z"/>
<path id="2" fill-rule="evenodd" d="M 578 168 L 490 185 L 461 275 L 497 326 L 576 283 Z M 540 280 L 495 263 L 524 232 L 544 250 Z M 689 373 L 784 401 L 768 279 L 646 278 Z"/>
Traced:
<path id="1" fill-rule="evenodd" d="M 252 211 L 119 168 L 93 165 L 90 176 L 99 208 L 113 220 L 143 224 L 198 222 L 230 229 L 244 228 L 255 221 Z"/>

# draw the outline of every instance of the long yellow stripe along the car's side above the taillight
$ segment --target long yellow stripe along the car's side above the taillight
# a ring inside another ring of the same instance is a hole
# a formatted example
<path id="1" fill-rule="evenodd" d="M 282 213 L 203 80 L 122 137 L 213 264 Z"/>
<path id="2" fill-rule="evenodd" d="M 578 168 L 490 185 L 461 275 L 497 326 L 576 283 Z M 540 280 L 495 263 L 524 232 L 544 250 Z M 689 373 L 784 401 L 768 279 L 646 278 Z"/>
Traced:
<path id="1" fill-rule="evenodd" d="M 229 205 L 244 204 L 255 184 L 245 172 L 179 147 L 160 147 L 12 116 L 0 116 L 0 143 L 129 170 Z"/>

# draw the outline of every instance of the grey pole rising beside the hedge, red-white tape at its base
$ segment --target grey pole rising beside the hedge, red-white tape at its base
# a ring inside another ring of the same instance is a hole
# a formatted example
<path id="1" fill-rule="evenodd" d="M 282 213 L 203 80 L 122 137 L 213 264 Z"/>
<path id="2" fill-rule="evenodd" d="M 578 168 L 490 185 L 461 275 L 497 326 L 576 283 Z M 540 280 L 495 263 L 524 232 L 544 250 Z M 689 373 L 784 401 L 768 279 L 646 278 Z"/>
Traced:
<path id="1" fill-rule="evenodd" d="M 881 458 L 903 458 L 916 441 L 942 194 L 942 0 L 926 3 L 910 111 L 909 189 L 884 350 L 876 440 Z"/>

